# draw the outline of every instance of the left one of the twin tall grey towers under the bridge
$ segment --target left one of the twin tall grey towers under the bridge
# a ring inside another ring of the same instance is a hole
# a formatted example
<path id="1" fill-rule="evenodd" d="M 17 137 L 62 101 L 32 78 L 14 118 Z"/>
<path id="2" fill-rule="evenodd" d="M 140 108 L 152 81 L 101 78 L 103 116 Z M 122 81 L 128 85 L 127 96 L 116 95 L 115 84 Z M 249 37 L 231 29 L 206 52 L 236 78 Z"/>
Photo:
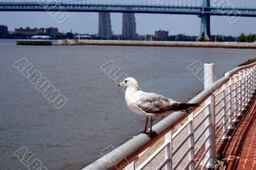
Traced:
<path id="1" fill-rule="evenodd" d="M 111 19 L 109 12 L 99 13 L 99 31 L 98 35 L 100 38 L 111 39 Z"/>

